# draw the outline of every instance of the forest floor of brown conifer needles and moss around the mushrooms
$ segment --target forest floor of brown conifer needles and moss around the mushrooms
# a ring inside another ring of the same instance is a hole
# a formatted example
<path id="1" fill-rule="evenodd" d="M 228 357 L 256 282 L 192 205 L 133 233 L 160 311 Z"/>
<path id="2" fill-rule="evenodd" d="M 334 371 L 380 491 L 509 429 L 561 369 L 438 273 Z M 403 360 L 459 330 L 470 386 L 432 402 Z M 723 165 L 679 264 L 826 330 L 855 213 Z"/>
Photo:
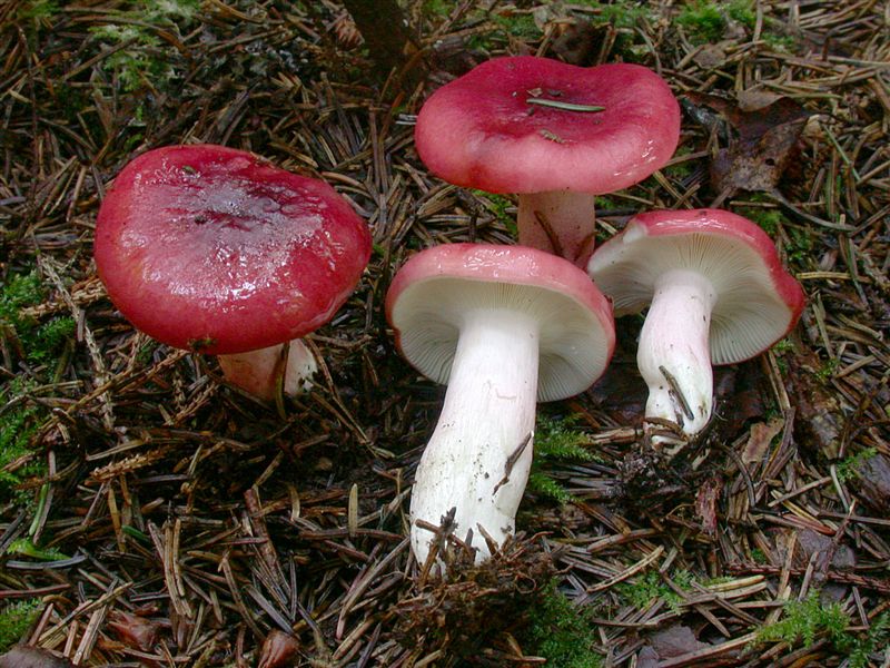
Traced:
<path id="1" fill-rule="evenodd" d="M 399 91 L 333 0 L 0 6 L 0 651 L 890 666 L 888 4 L 428 0 L 406 16 L 429 73 Z M 599 199 L 601 239 L 647 209 L 728 208 L 774 239 L 807 307 L 772 351 L 716 371 L 712 424 L 671 461 L 642 438 L 641 321 L 620 320 L 606 375 L 540 406 L 516 540 L 478 567 L 458 550 L 442 580 L 406 537 L 444 390 L 398 355 L 382 305 L 417 249 L 514 243 L 514 198 L 443 183 L 413 144 L 424 98 L 503 53 L 663 76 L 680 148 Z M 103 194 L 180 143 L 323 178 L 367 219 L 367 271 L 308 337 L 324 361 L 308 394 L 254 400 L 106 296 Z"/>

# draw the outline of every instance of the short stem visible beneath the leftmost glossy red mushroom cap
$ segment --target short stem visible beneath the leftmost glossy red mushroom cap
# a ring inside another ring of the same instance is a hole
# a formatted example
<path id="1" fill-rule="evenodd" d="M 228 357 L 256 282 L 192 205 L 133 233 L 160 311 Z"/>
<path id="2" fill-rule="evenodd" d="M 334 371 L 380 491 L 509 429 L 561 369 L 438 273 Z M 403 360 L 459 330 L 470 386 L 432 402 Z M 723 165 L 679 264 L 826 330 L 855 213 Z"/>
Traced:
<path id="1" fill-rule="evenodd" d="M 309 379 L 318 370 L 315 355 L 300 338 L 258 351 L 219 355 L 218 360 L 229 383 L 268 401 L 275 399 L 281 373 L 284 393 L 294 396 L 312 386 Z"/>

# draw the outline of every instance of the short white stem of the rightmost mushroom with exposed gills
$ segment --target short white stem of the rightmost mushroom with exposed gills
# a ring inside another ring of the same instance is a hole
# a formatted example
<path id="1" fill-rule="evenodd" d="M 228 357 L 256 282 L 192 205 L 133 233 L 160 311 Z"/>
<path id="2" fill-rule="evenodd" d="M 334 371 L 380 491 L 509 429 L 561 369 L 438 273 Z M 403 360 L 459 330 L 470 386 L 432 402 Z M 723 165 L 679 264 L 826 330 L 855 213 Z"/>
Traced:
<path id="1" fill-rule="evenodd" d="M 714 382 L 708 341 L 716 292 L 708 278 L 686 269 L 663 274 L 654 287 L 636 352 L 649 385 L 646 418 L 675 422 L 692 436 L 711 418 Z"/>

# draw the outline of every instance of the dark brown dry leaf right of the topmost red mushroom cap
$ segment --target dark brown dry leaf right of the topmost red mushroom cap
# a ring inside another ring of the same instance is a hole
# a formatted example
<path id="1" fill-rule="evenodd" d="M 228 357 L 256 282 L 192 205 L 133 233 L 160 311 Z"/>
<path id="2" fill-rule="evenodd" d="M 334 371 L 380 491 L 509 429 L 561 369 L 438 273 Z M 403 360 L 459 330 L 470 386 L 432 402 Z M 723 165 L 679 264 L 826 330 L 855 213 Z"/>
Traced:
<path id="1" fill-rule="evenodd" d="M 743 109 L 740 101 L 714 95 L 694 91 L 686 95 L 694 105 L 722 114 L 736 134 L 728 148 L 718 150 L 711 164 L 711 185 L 718 193 L 712 206 L 720 206 L 739 190 L 774 191 L 795 155 L 810 114 L 788 97 L 762 107 L 745 99 Z"/>

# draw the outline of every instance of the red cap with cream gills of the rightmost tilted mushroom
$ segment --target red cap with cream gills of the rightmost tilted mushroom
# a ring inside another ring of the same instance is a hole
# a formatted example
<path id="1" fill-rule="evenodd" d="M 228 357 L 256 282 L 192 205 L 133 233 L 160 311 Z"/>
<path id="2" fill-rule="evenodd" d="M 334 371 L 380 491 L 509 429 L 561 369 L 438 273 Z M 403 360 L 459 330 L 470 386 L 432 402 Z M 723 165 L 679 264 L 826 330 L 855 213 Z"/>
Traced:
<path id="1" fill-rule="evenodd" d="M 645 308 L 659 276 L 674 269 L 699 272 L 714 286 L 713 364 L 762 353 L 788 334 L 803 311 L 803 289 L 782 266 L 772 239 L 748 218 L 721 209 L 634 216 L 587 265 L 612 298 L 615 315 Z"/>

